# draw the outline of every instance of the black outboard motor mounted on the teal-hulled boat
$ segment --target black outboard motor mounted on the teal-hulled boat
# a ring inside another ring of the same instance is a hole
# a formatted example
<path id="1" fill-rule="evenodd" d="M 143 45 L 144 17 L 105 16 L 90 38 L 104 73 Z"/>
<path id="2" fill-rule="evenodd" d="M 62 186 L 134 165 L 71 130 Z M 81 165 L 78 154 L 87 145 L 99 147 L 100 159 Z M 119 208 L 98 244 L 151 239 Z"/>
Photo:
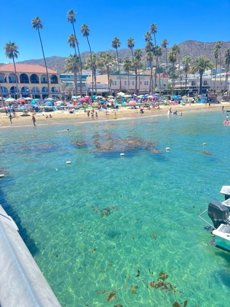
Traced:
<path id="1" fill-rule="evenodd" d="M 225 205 L 219 202 L 213 201 L 209 203 L 208 216 L 213 221 L 215 228 L 218 228 L 220 224 L 226 224 L 229 219 L 229 209 Z"/>

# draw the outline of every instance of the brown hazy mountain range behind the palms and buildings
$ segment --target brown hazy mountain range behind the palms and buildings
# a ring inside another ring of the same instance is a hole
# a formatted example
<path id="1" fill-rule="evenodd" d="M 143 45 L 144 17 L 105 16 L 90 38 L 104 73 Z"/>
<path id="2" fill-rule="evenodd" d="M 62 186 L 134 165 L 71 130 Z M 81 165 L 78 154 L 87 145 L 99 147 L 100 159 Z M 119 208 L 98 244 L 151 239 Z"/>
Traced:
<path id="1" fill-rule="evenodd" d="M 197 40 L 186 40 L 179 44 L 180 47 L 180 55 L 179 58 L 182 59 L 185 55 L 190 56 L 193 60 L 196 59 L 200 55 L 205 55 L 207 58 L 214 60 L 214 48 L 215 48 L 216 42 L 210 42 L 210 43 L 204 43 L 199 42 Z M 221 48 L 222 50 L 222 58 L 224 56 L 224 51 L 230 48 L 230 41 L 223 42 L 223 46 Z M 167 52 L 169 52 L 171 48 L 167 48 Z M 102 51 L 95 52 L 96 54 L 100 54 Z M 108 50 L 103 52 L 109 52 L 116 56 L 115 50 Z M 143 53 L 145 53 L 143 49 Z M 82 63 L 86 62 L 86 58 L 90 55 L 89 51 L 84 51 L 81 53 Z M 118 55 L 119 58 L 124 60 L 127 57 L 131 57 L 131 50 L 130 49 L 118 49 Z M 50 56 L 46 58 L 47 66 L 48 68 L 56 69 L 59 73 L 65 71 L 65 60 L 66 57 L 62 56 Z M 162 48 L 162 56 L 160 57 L 160 63 L 166 62 L 166 54 L 165 49 Z M 26 60 L 21 61 L 17 63 L 24 63 L 24 64 L 38 64 L 44 66 L 44 59 L 32 59 L 32 60 Z M 222 63 L 224 63 L 222 59 Z"/>

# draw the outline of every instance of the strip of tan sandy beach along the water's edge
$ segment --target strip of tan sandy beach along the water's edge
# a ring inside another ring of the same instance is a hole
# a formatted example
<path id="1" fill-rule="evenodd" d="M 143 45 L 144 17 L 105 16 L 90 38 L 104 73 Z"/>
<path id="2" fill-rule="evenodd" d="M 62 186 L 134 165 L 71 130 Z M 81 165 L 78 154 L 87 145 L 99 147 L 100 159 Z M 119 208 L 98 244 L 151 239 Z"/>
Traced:
<path id="1" fill-rule="evenodd" d="M 180 113 L 187 113 L 187 112 L 194 112 L 199 111 L 203 112 L 206 110 L 216 110 L 221 112 L 222 106 L 224 106 L 225 111 L 230 109 L 230 102 L 222 102 L 220 104 L 211 104 L 209 106 L 208 104 L 192 104 L 189 105 L 172 105 L 172 106 L 160 106 L 160 109 L 146 109 L 144 111 L 144 114 L 140 114 L 139 109 L 131 109 L 131 107 L 120 107 L 118 110 L 109 109 L 108 115 L 105 114 L 104 111 L 98 112 L 98 119 L 94 116 L 94 121 L 101 121 L 101 120 L 115 120 L 114 118 L 114 112 L 116 112 L 117 119 L 129 119 L 129 118 L 140 118 L 140 117 L 148 117 L 148 116 L 158 116 L 158 115 L 166 115 L 169 108 L 172 108 L 172 112 L 178 111 L 178 115 L 180 116 Z M 46 118 L 46 116 L 49 114 L 52 116 L 52 118 Z M 227 113 L 226 113 L 227 115 Z M 87 113 L 84 113 L 83 110 L 78 110 L 74 114 L 70 114 L 68 111 L 55 111 L 55 112 L 41 112 L 36 113 L 36 126 L 39 125 L 49 125 L 49 124 L 74 124 L 78 122 L 90 122 L 93 121 L 90 118 L 88 119 Z M 5 113 L 0 113 L 0 127 L 17 127 L 17 126 L 33 126 L 32 122 L 32 113 L 28 113 L 28 115 L 22 115 L 22 113 L 16 113 L 16 117 L 13 117 L 12 124 L 10 123 L 10 119 L 8 118 L 8 115 L 6 116 Z"/>

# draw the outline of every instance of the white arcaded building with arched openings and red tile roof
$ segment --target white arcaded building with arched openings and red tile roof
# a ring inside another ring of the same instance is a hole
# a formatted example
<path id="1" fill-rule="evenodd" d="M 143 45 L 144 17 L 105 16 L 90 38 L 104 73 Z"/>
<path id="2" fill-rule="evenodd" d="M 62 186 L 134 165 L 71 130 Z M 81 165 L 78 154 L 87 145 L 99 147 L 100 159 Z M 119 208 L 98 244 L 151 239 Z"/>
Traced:
<path id="1" fill-rule="evenodd" d="M 46 68 L 35 64 L 5 64 L 0 66 L 0 84 L 4 97 L 48 97 L 48 80 Z M 59 96 L 59 77 L 56 70 L 48 68 L 50 97 Z M 16 87 L 17 78 L 17 87 Z M 18 89 L 18 91 L 17 91 Z"/>

